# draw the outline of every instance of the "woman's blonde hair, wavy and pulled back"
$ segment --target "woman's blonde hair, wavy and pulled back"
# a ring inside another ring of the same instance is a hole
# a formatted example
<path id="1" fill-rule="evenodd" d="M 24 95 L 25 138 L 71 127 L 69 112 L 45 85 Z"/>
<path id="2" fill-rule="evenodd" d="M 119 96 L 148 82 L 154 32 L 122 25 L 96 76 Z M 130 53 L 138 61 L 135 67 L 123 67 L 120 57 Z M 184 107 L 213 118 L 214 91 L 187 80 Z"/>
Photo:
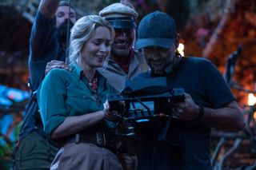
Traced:
<path id="1" fill-rule="evenodd" d="M 75 22 L 70 34 L 69 64 L 77 60 L 82 46 L 93 36 L 99 26 L 110 30 L 111 42 L 113 42 L 114 29 L 104 18 L 98 15 L 87 15 Z"/>

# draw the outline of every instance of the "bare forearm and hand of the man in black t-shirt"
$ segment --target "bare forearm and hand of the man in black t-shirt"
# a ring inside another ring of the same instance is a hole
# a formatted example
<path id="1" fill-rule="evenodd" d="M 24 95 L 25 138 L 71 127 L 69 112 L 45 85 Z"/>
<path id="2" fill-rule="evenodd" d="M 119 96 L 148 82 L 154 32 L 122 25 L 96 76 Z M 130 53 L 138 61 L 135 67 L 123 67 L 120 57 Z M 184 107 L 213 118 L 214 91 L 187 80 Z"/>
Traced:
<path id="1" fill-rule="evenodd" d="M 178 103 L 179 119 L 192 121 L 198 117 L 199 107 L 196 105 L 188 93 L 185 94 L 185 101 Z M 242 130 L 246 123 L 236 101 L 230 101 L 229 104 L 220 109 L 211 109 L 204 107 L 204 115 L 200 120 L 211 127 L 228 130 Z"/>

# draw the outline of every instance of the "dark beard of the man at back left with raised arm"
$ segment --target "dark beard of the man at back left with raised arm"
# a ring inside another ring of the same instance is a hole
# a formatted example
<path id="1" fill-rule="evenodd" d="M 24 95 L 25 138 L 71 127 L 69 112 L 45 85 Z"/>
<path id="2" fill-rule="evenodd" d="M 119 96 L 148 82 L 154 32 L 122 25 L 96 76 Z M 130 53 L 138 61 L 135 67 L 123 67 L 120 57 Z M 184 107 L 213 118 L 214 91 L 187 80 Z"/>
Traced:
<path id="1" fill-rule="evenodd" d="M 65 20 L 65 22 L 63 22 L 62 25 L 58 27 L 57 36 L 60 42 L 67 42 L 66 38 L 70 37 L 70 30 L 73 26 L 74 26 L 73 22 L 70 21 L 70 23 L 68 23 L 68 20 Z M 68 33 L 67 33 L 67 30 L 69 30 Z"/>

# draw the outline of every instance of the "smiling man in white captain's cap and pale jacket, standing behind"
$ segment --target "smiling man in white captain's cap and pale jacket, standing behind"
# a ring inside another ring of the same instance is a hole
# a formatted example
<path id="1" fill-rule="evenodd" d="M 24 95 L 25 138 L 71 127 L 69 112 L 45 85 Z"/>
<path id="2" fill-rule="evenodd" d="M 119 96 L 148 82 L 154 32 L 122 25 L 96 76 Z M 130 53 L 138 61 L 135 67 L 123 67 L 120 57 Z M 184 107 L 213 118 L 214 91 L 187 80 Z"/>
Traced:
<path id="1" fill-rule="evenodd" d="M 138 13 L 131 4 L 114 3 L 106 6 L 99 12 L 99 15 L 109 21 L 115 31 L 110 57 L 99 71 L 117 93 L 120 93 L 126 80 L 149 69 L 145 58 L 135 51 L 133 46 Z M 122 150 L 118 157 L 122 168 L 136 169 L 136 141 L 126 138 L 121 140 Z"/>

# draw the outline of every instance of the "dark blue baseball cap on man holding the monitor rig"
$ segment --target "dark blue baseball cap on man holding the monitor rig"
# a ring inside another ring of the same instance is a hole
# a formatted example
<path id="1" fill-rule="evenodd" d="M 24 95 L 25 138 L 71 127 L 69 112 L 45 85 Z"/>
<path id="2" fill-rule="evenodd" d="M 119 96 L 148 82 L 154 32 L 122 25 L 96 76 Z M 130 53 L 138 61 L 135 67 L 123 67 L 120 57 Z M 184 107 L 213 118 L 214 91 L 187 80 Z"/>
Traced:
<path id="1" fill-rule="evenodd" d="M 169 49 L 177 37 L 174 18 L 170 14 L 155 11 L 147 14 L 138 26 L 136 49 L 159 46 Z"/>

